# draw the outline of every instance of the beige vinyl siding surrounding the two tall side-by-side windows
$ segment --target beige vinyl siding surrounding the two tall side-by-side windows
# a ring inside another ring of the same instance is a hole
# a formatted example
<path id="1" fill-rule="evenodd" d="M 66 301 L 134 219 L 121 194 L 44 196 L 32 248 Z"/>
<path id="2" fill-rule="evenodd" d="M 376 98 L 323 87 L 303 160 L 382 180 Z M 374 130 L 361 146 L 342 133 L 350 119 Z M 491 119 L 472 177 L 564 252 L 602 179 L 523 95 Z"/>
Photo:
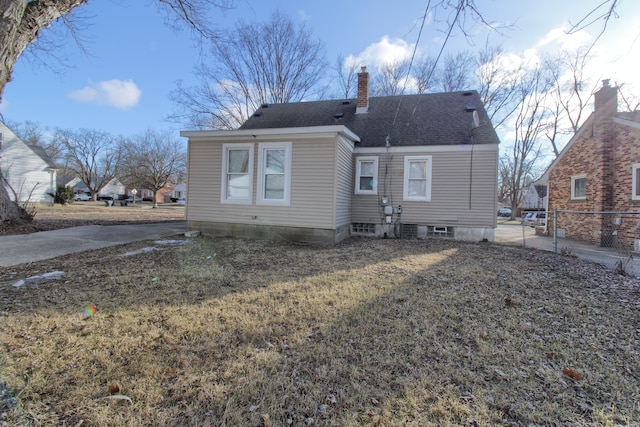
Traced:
<path id="1" fill-rule="evenodd" d="M 188 221 L 334 228 L 335 137 L 292 141 L 289 206 L 256 204 L 259 191 L 258 144 L 262 141 L 258 138 L 237 142 L 254 146 L 251 203 L 221 203 L 223 143 L 192 140 L 189 147 Z M 289 141 L 283 138 L 277 142 Z"/>

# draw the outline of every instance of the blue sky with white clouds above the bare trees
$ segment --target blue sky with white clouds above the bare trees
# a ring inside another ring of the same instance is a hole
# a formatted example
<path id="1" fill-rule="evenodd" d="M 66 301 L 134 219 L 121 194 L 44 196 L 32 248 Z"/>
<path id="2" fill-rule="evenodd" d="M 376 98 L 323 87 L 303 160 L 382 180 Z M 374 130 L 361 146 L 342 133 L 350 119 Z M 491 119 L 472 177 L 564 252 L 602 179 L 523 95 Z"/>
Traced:
<path id="1" fill-rule="evenodd" d="M 181 126 L 165 120 L 173 110 L 168 95 L 177 80 L 195 83 L 192 69 L 199 51 L 188 32 L 175 32 L 164 25 L 154 1 L 91 0 L 82 6 L 80 11 L 92 24 L 83 32 L 88 54 L 80 52 L 69 38 L 58 52 L 69 57 L 69 68 L 58 67 L 54 72 L 21 58 L 0 104 L 4 119 L 38 122 L 51 131 L 90 128 L 132 136 L 153 128 L 174 130 L 177 135 Z M 428 0 L 235 3 L 235 9 L 214 18 L 222 31 L 233 28 L 239 19 L 266 21 L 279 8 L 295 21 L 304 21 L 324 43 L 329 66 L 338 55 L 374 66 L 410 54 Z M 568 21 L 578 21 L 601 0 L 477 3 L 485 18 L 511 24 L 513 29 L 500 36 L 478 28 L 473 45 L 457 34 L 447 52 L 479 50 L 489 37 L 492 45 L 500 44 L 518 57 L 530 57 L 588 42 L 600 29 L 594 25 L 573 36 L 563 31 Z M 596 45 L 597 57 L 589 73 L 594 81 L 625 82 L 640 95 L 640 2 L 622 0 L 619 14 Z M 442 28 L 443 24 L 427 21 L 419 52 L 437 52 Z"/>

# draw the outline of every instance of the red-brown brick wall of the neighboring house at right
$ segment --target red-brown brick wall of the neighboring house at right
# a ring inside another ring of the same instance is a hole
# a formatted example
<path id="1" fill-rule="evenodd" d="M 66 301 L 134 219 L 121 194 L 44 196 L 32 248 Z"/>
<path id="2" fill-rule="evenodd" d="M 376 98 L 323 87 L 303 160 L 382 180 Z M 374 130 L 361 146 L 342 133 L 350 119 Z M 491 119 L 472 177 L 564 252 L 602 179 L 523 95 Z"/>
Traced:
<path id="1" fill-rule="evenodd" d="M 577 139 L 549 174 L 549 211 L 632 211 L 632 166 L 640 163 L 640 129 L 614 123 L 610 115 L 592 115 Z M 571 200 L 571 177 L 586 174 L 586 198 Z M 551 216 L 551 215 L 550 215 Z M 616 222 L 605 215 L 585 223 L 579 215 L 564 215 L 558 228 L 568 238 L 608 246 L 609 242 L 633 247 L 640 238 L 640 221 Z M 553 232 L 552 218 L 549 229 Z"/>

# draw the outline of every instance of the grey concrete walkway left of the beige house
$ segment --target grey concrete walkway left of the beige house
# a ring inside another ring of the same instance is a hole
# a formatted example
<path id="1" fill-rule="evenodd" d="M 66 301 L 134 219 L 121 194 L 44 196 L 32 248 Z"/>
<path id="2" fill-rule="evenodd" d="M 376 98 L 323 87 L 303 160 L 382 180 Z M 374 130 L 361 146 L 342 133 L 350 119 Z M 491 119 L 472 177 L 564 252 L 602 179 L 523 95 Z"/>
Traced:
<path id="1" fill-rule="evenodd" d="M 85 225 L 31 234 L 0 236 L 0 267 L 41 261 L 139 240 L 184 234 L 186 221 L 132 225 Z"/>

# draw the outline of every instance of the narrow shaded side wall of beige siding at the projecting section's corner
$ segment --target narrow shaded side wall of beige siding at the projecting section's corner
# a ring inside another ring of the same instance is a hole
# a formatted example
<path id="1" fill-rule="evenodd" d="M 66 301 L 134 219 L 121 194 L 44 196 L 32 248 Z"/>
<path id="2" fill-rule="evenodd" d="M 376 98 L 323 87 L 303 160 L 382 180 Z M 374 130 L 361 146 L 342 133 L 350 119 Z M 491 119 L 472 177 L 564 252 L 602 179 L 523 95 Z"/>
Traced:
<path id="1" fill-rule="evenodd" d="M 336 146 L 336 226 L 351 222 L 351 195 L 353 193 L 353 144 L 338 141 Z"/>

